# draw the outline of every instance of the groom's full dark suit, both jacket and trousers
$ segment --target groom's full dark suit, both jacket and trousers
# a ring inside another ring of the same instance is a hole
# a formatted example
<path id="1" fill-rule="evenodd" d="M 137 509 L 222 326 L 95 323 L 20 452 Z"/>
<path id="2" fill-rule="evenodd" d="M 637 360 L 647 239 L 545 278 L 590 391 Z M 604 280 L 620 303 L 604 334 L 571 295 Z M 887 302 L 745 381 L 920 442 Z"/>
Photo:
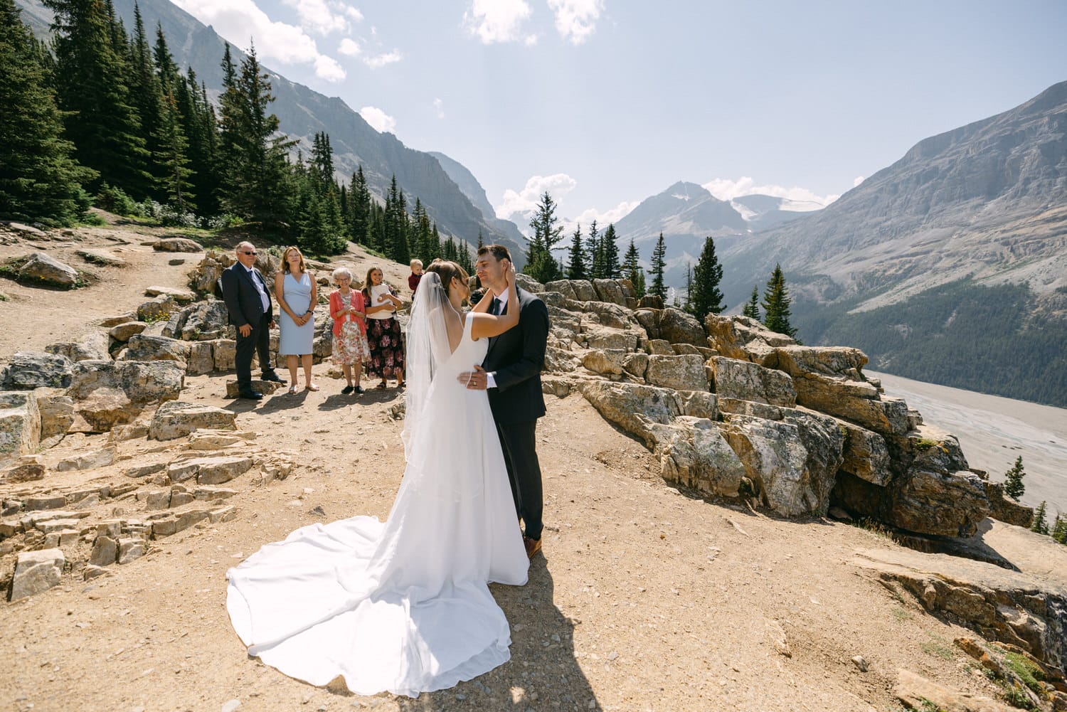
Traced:
<path id="1" fill-rule="evenodd" d="M 548 339 L 548 310 L 530 292 L 515 288 L 519 326 L 489 339 L 482 367 L 493 374 L 496 383 L 495 389 L 489 389 L 489 405 L 500 437 L 515 511 L 526 525 L 525 535 L 540 539 L 544 502 L 537 459 L 537 420 L 544 415 L 541 368 Z"/>

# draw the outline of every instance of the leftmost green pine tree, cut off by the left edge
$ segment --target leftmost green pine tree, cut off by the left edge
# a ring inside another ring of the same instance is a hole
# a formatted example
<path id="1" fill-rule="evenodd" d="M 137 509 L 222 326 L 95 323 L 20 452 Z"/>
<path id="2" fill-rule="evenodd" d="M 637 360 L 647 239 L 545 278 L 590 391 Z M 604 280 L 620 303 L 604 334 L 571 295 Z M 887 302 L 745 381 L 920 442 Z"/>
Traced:
<path id="1" fill-rule="evenodd" d="M 0 220 L 69 224 L 89 208 L 96 173 L 63 137 L 42 48 L 13 0 L 0 0 Z"/>

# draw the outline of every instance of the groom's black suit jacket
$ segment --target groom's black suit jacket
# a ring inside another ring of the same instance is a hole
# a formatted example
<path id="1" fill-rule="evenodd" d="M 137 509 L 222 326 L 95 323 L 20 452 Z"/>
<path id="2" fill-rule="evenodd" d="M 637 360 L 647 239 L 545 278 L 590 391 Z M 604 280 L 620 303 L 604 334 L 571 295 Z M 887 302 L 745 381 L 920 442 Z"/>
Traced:
<path id="1" fill-rule="evenodd" d="M 500 424 L 536 421 L 544 415 L 541 368 L 548 338 L 548 310 L 544 302 L 515 285 L 519 326 L 489 339 L 482 367 L 495 371 L 489 390 L 493 418 Z M 504 304 L 507 313 L 507 303 Z"/>

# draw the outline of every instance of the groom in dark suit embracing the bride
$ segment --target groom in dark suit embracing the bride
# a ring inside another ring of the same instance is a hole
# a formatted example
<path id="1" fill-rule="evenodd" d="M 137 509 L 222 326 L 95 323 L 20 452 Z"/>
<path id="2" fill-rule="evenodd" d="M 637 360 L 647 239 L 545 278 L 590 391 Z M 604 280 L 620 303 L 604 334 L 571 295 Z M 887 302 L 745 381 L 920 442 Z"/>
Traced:
<path id="1" fill-rule="evenodd" d="M 500 244 L 478 249 L 475 273 L 493 290 L 490 313 L 507 313 L 507 272 L 511 253 Z M 489 390 L 489 405 L 504 449 L 515 511 L 526 524 L 526 555 L 541 551 L 541 465 L 537 459 L 537 418 L 544 415 L 541 366 L 548 338 L 548 310 L 544 302 L 515 285 L 519 326 L 489 339 L 489 351 L 472 374 L 460 374 L 468 389 Z"/>

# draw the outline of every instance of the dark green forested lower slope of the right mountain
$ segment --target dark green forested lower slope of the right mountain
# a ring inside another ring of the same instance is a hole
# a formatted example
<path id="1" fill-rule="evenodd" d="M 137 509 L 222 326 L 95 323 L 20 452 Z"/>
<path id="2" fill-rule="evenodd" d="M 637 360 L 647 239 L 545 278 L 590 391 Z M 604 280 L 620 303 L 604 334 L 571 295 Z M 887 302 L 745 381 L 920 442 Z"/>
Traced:
<path id="1" fill-rule="evenodd" d="M 797 305 L 812 344 L 855 346 L 873 370 L 1067 407 L 1067 319 L 1034 308 L 1021 285 L 969 280 L 848 314 L 855 302 Z"/>

